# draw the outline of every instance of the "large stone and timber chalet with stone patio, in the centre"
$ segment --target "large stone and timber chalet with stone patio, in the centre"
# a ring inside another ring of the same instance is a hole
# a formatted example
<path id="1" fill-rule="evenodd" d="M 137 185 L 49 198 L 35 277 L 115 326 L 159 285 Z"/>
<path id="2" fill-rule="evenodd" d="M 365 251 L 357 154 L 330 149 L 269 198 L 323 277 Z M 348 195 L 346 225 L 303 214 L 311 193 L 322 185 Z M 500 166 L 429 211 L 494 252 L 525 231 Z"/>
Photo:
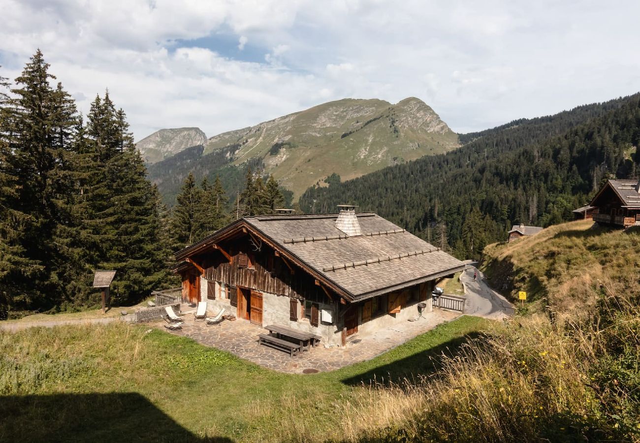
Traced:
<path id="1" fill-rule="evenodd" d="M 435 282 L 465 265 L 373 213 L 244 217 L 177 252 L 184 302 L 344 345 L 431 311 Z"/>

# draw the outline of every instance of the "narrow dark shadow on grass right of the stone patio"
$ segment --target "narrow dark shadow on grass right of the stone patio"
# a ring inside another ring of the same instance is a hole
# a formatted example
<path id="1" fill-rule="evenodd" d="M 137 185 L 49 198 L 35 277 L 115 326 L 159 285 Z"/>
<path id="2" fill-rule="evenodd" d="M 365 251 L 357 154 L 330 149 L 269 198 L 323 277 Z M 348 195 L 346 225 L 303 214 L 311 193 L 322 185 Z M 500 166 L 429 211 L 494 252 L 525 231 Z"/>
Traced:
<path id="1" fill-rule="evenodd" d="M 438 376 L 438 371 L 442 369 L 442 355 L 455 357 L 465 344 L 481 337 L 480 332 L 469 332 L 468 334 L 456 337 L 447 342 L 418 351 L 404 358 L 399 358 L 387 364 L 369 369 L 364 373 L 343 378 L 340 380 L 347 385 L 369 385 L 371 383 L 388 382 L 398 383 L 404 379 L 410 382 L 420 380 L 422 377 Z"/>

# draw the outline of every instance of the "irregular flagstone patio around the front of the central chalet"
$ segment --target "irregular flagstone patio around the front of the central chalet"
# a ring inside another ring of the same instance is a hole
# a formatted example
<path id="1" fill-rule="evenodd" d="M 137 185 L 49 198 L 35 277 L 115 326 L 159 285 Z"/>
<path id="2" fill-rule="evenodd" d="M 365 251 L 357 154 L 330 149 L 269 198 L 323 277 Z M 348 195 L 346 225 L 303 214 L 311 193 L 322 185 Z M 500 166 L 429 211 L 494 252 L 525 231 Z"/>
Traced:
<path id="1" fill-rule="evenodd" d="M 287 353 L 258 344 L 258 334 L 266 330 L 252 325 L 248 320 L 225 320 L 220 325 L 207 326 L 204 321 L 195 321 L 193 311 L 183 312 L 185 324 L 182 330 L 170 334 L 189 337 L 206 346 L 229 351 L 250 362 L 285 373 L 315 373 L 333 371 L 380 355 L 400 344 L 424 334 L 440 323 L 451 321 L 460 314 L 434 310 L 417 321 L 404 321 L 393 327 L 383 328 L 378 332 L 359 337 L 351 335 L 346 346 L 342 348 L 324 348 L 320 344 L 316 348 L 289 357 Z M 157 326 L 166 330 L 161 323 Z"/>

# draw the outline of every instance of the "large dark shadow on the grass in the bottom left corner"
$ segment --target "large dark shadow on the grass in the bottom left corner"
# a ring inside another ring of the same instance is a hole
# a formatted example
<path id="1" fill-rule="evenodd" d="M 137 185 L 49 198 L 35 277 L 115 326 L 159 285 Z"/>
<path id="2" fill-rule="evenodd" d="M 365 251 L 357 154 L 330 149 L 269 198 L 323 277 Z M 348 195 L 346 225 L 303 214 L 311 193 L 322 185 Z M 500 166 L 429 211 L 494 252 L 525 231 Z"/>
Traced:
<path id="1" fill-rule="evenodd" d="M 232 442 L 198 437 L 135 392 L 0 396 L 0 441 Z"/>

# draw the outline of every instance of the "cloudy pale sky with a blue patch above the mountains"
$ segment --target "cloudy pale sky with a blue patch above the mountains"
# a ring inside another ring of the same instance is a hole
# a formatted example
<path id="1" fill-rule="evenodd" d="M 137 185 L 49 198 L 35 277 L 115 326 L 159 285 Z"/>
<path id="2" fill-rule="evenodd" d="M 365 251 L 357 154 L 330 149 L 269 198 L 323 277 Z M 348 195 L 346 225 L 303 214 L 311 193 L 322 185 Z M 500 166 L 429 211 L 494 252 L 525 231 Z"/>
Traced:
<path id="1" fill-rule="evenodd" d="M 0 75 L 37 47 L 136 140 L 208 136 L 344 97 L 419 97 L 454 131 L 640 90 L 637 1 L 0 0 Z"/>

